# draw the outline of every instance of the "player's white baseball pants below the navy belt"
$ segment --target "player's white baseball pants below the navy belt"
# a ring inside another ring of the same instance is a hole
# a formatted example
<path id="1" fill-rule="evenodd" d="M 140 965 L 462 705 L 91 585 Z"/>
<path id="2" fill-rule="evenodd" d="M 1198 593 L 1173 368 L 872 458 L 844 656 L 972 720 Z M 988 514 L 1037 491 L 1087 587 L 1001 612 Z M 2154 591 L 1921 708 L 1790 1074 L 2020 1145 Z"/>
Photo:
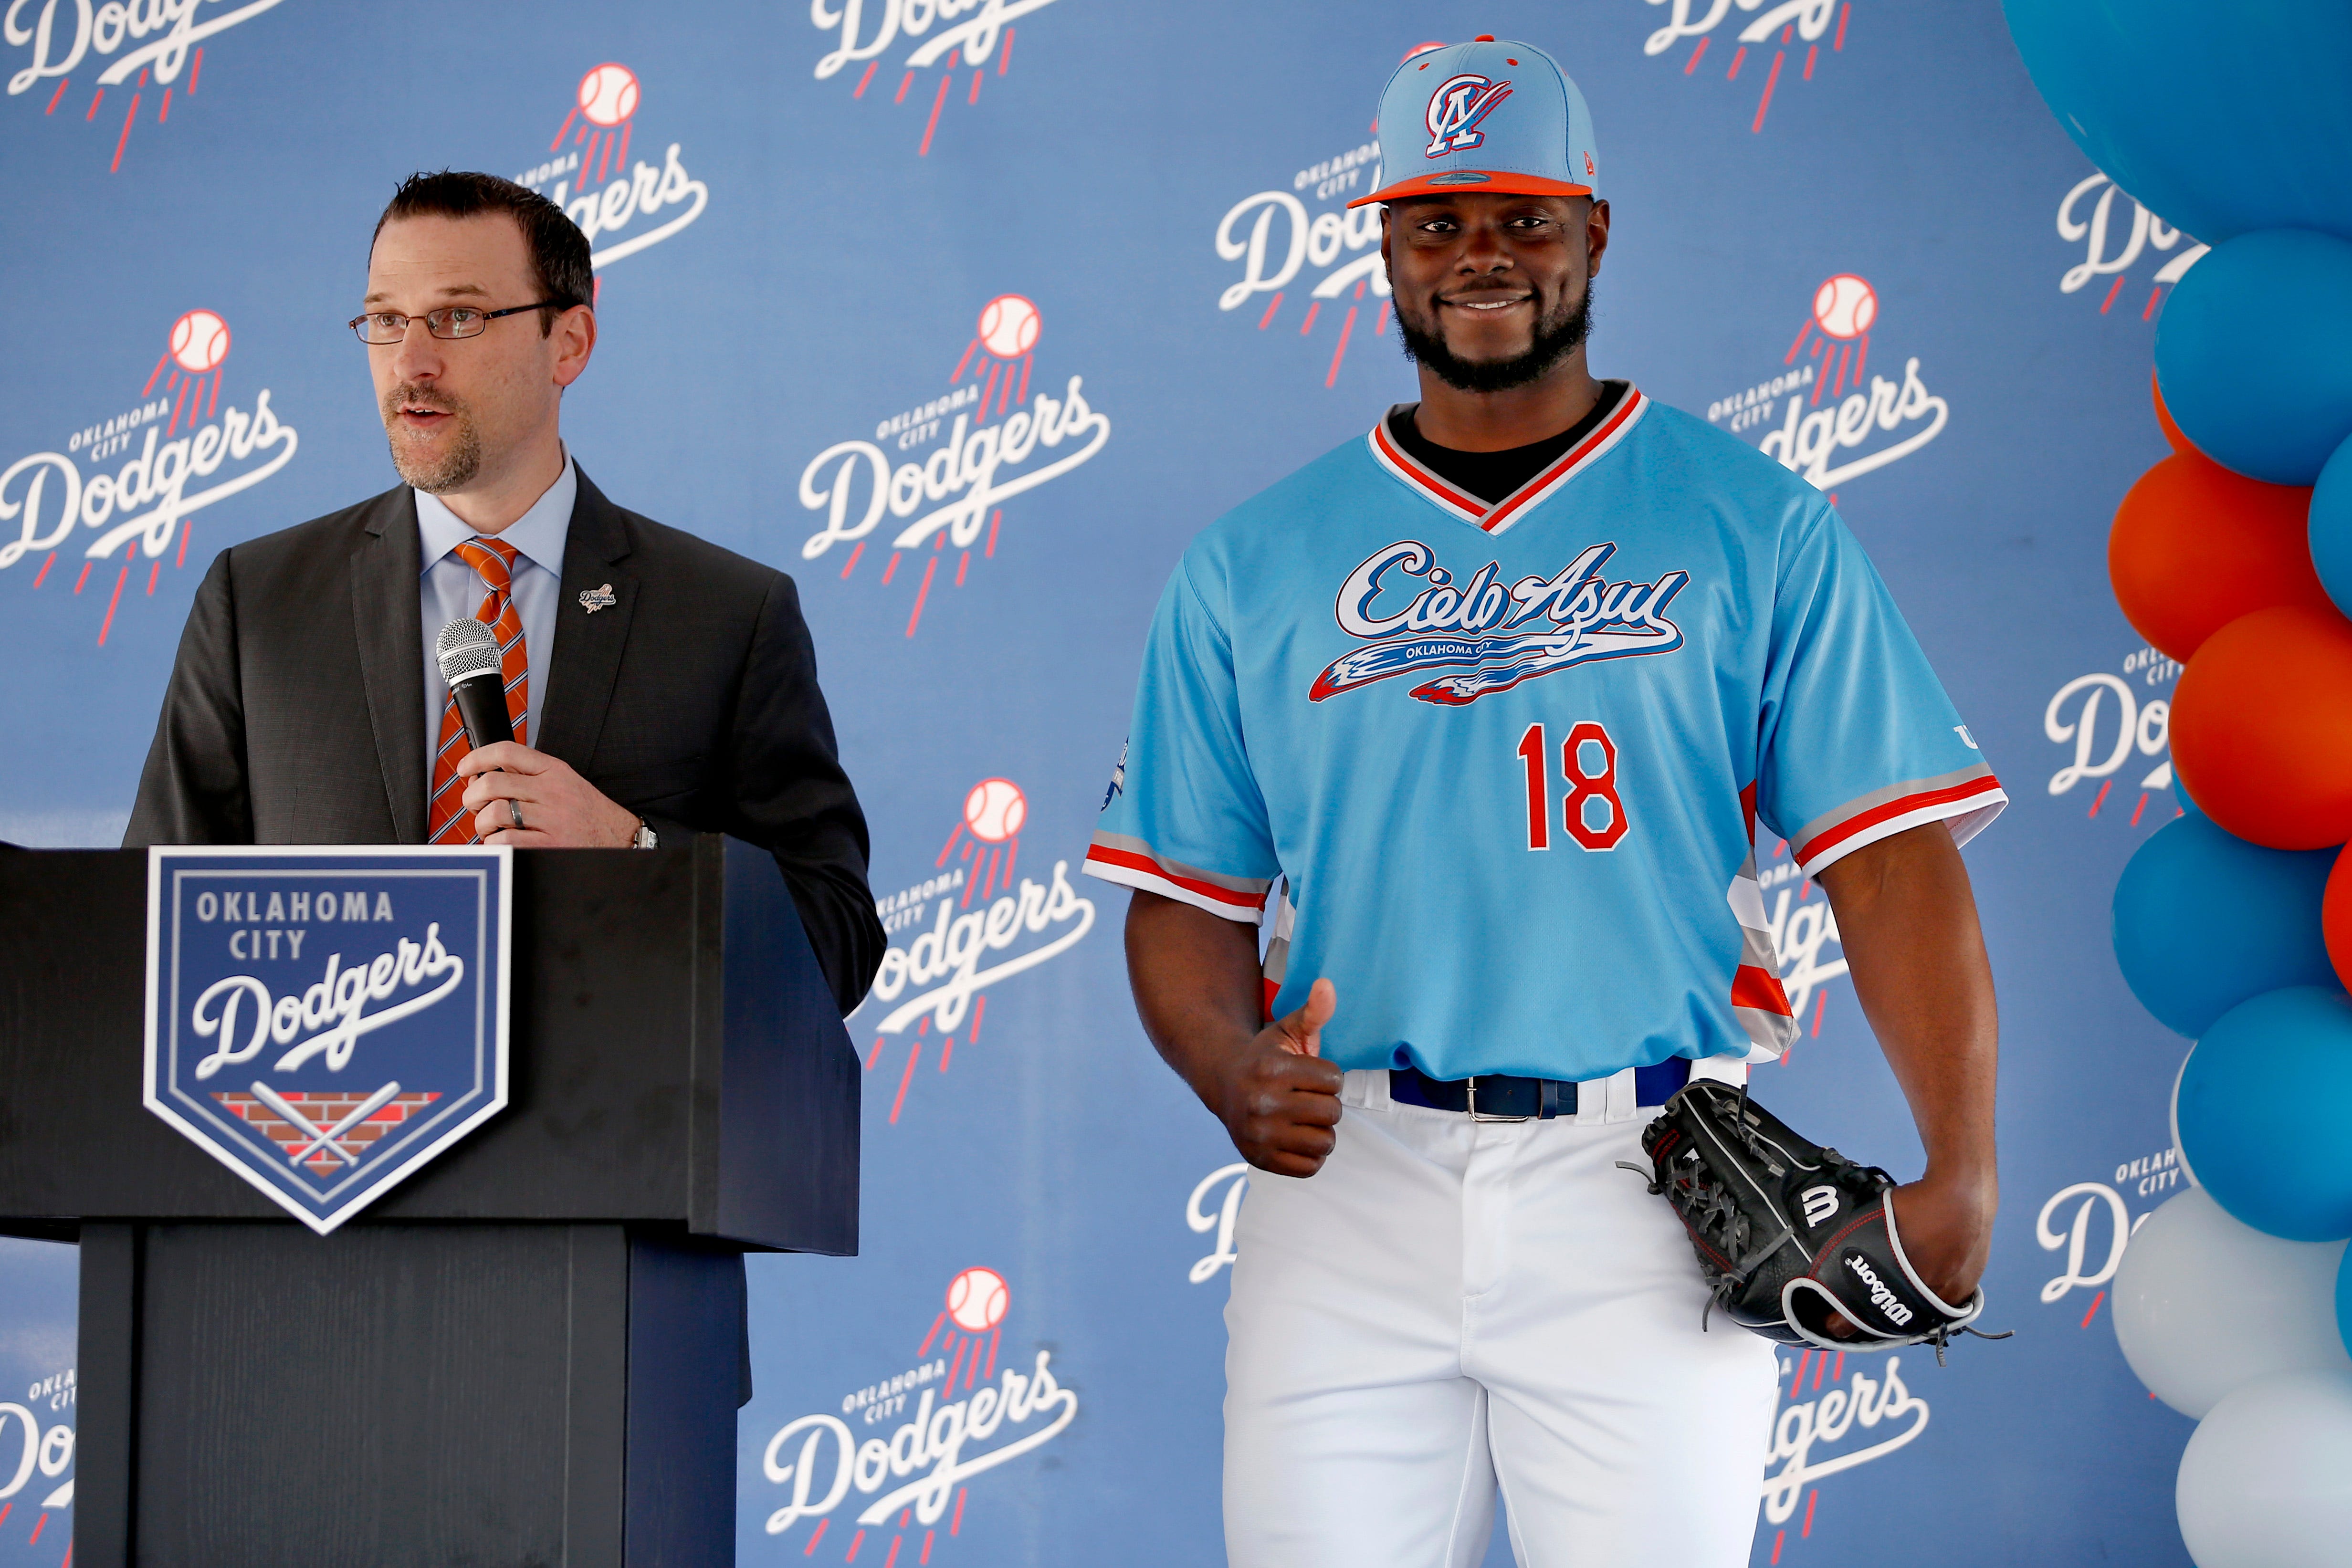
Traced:
<path id="1" fill-rule="evenodd" d="M 1235 1568 L 1743 1568 L 1773 1347 L 1717 1321 L 1632 1074 L 1475 1124 L 1350 1072 L 1308 1180 L 1251 1175 L 1225 1307 Z M 1616 1091 L 1616 1093 L 1609 1093 Z"/>

